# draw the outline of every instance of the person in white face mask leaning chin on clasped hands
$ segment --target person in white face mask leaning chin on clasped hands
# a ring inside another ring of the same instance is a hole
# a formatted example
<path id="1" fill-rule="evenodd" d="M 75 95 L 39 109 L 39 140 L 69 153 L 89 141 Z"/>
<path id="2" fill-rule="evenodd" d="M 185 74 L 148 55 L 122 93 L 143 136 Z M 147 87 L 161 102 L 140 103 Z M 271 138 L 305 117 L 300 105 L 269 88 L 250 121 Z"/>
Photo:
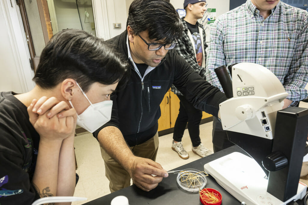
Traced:
<path id="1" fill-rule="evenodd" d="M 101 38 L 64 30 L 43 49 L 32 90 L 0 93 L 1 204 L 73 196 L 76 123 L 93 131 L 109 121 L 126 67 Z"/>

